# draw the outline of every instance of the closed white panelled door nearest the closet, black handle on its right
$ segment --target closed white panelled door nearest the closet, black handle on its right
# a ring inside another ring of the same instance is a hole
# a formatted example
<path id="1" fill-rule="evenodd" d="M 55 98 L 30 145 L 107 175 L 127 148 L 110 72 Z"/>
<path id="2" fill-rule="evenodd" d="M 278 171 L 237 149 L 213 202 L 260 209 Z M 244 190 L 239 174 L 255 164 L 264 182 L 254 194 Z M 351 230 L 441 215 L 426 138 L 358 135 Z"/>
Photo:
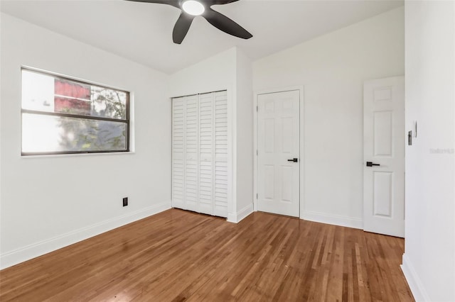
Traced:
<path id="1" fill-rule="evenodd" d="M 299 217 L 299 90 L 257 96 L 257 210 Z"/>

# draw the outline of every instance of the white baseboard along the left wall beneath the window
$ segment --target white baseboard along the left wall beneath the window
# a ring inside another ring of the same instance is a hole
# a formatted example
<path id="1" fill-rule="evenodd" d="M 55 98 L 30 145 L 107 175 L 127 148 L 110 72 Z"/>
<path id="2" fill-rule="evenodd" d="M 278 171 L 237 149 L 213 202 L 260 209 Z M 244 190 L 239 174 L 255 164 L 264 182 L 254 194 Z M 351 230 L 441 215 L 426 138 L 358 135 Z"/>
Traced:
<path id="1" fill-rule="evenodd" d="M 132 223 L 136 220 L 166 211 L 169 208 L 171 208 L 171 201 L 165 201 L 154 206 L 143 208 L 139 211 L 127 213 L 123 216 L 111 218 L 100 223 L 95 223 L 94 225 L 89 225 L 85 228 L 80 228 L 78 230 L 50 238 L 48 240 L 36 242 L 33 245 L 27 245 L 26 247 L 6 252 L 5 254 L 0 255 L 0 269 L 11 267 L 15 264 L 47 254 L 48 252 L 53 252 L 68 245 L 73 245 L 76 242 L 100 235 L 101 233 L 113 230 L 114 228 L 119 228 L 122 225 L 127 225 L 128 223 Z"/>

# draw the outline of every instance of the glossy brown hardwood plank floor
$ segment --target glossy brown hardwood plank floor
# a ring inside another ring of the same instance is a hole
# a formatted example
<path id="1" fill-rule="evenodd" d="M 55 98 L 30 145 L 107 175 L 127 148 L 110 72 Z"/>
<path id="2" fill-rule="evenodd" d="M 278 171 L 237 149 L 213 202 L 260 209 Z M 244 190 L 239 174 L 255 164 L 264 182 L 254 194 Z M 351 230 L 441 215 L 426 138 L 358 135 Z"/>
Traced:
<path id="1" fill-rule="evenodd" d="M 171 209 L 0 272 L 0 301 L 414 301 L 404 240 Z"/>

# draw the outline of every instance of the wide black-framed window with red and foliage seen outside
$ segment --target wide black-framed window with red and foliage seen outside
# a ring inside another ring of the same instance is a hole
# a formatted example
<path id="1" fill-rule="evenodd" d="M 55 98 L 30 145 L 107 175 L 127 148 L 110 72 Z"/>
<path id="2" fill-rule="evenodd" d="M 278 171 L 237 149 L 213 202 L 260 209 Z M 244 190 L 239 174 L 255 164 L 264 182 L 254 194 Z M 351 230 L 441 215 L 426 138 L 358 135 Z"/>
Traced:
<path id="1" fill-rule="evenodd" d="M 22 72 L 22 155 L 129 151 L 129 92 Z"/>

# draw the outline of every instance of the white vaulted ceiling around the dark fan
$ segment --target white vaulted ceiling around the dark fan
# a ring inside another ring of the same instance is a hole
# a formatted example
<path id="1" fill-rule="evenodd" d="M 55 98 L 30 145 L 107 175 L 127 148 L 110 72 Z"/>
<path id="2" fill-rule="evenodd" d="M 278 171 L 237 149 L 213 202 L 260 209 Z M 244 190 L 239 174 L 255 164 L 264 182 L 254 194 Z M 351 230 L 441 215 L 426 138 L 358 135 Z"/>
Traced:
<path id="1" fill-rule="evenodd" d="M 403 1 L 242 0 L 213 6 L 252 33 L 242 40 L 202 17 L 181 45 L 172 29 L 180 11 L 173 6 L 122 0 L 1 0 L 0 10 L 43 28 L 173 73 L 230 47 L 252 60 L 284 50 L 403 5 Z"/>

